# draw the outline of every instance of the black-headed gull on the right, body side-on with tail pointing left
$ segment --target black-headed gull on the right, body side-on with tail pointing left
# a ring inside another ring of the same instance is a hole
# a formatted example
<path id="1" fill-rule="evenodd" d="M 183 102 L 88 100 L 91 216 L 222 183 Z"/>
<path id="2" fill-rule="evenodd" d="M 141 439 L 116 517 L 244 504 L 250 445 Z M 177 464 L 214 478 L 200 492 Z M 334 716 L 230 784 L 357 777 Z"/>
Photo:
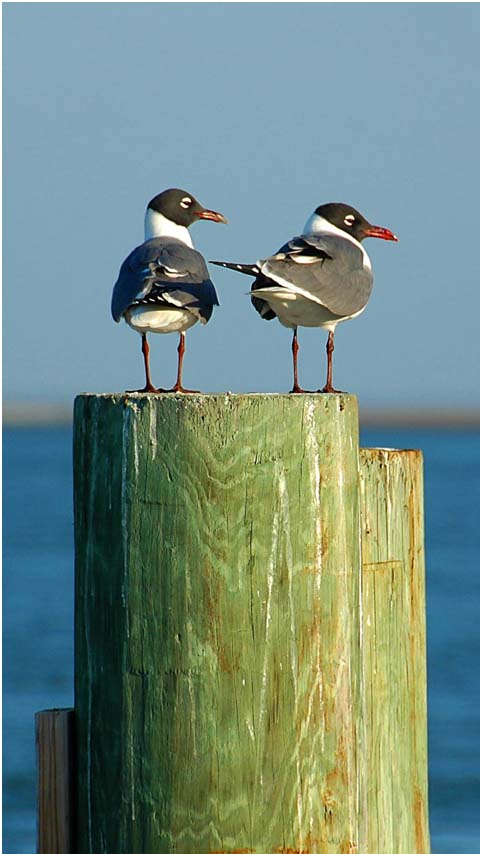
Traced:
<path id="1" fill-rule="evenodd" d="M 255 276 L 250 296 L 264 320 L 278 317 L 293 329 L 292 393 L 305 392 L 298 384 L 299 326 L 328 330 L 327 381 L 321 392 L 340 393 L 333 387 L 332 357 L 338 323 L 358 317 L 373 287 L 370 258 L 362 246 L 366 237 L 398 238 L 388 228 L 371 225 L 361 213 L 342 202 L 317 207 L 302 234 L 285 243 L 275 255 L 256 264 L 212 261 Z"/>

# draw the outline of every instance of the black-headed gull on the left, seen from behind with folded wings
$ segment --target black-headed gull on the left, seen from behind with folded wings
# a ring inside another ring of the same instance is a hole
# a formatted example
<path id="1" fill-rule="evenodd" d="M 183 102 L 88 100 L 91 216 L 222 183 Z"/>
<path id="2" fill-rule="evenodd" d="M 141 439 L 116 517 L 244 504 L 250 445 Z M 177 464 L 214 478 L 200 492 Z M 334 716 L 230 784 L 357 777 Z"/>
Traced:
<path id="1" fill-rule="evenodd" d="M 125 318 L 142 336 L 145 386 L 141 392 L 192 393 L 182 385 L 185 332 L 199 320 L 208 323 L 218 305 L 205 259 L 193 248 L 188 228 L 199 219 L 227 222 L 217 211 L 204 208 L 186 190 L 164 190 L 145 213 L 145 242 L 120 267 L 113 288 L 112 317 Z M 177 381 L 171 389 L 157 389 L 150 379 L 147 332 L 178 332 Z"/>

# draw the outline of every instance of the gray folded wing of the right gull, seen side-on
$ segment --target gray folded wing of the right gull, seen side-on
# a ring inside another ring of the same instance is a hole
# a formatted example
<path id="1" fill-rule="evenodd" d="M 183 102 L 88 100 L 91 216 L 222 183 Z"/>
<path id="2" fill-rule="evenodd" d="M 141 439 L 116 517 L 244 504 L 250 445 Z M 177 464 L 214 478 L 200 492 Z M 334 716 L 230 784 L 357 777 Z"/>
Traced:
<path id="1" fill-rule="evenodd" d="M 347 317 L 365 307 L 372 291 L 373 275 L 363 259 L 362 250 L 341 237 L 302 235 L 259 266 L 264 277 Z"/>

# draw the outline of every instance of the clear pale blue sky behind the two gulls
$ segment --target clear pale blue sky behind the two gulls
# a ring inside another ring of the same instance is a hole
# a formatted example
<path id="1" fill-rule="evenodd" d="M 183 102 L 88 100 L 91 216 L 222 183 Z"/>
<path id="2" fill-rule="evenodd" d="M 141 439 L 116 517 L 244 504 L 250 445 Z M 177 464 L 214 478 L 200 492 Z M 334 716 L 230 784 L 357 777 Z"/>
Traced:
<path id="1" fill-rule="evenodd" d="M 38 3 L 4 6 L 4 395 L 63 401 L 143 382 L 110 318 L 146 203 L 179 186 L 229 225 L 207 258 L 254 261 L 344 201 L 391 228 L 375 287 L 336 334 L 338 387 L 366 405 L 477 406 L 478 4 Z M 287 391 L 290 332 L 249 280 L 211 268 L 221 307 L 187 335 L 185 383 Z M 300 381 L 325 379 L 300 330 Z M 151 336 L 154 382 L 177 336 Z"/>

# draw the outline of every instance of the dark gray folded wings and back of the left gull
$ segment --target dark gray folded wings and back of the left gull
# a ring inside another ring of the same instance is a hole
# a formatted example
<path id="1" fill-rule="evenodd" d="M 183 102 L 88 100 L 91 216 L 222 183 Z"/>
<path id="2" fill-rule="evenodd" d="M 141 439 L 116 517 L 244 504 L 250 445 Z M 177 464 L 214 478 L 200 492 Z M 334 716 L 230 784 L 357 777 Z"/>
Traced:
<path id="1" fill-rule="evenodd" d="M 154 237 L 137 246 L 113 288 L 113 319 L 118 323 L 133 305 L 174 305 L 206 323 L 218 298 L 203 256 L 174 238 Z"/>

